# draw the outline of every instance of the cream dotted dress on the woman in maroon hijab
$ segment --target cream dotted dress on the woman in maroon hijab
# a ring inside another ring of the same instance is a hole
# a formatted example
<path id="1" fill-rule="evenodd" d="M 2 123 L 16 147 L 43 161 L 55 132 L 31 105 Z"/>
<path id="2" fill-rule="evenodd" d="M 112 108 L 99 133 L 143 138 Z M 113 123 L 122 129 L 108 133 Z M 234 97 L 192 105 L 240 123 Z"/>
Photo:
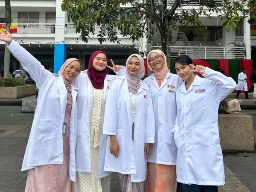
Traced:
<path id="1" fill-rule="evenodd" d="M 111 177 L 98 178 L 104 89 L 96 89 L 93 87 L 93 98 L 93 112 L 90 117 L 90 154 L 92 172 L 76 172 L 76 182 L 72 182 L 73 192 L 110 192 Z"/>

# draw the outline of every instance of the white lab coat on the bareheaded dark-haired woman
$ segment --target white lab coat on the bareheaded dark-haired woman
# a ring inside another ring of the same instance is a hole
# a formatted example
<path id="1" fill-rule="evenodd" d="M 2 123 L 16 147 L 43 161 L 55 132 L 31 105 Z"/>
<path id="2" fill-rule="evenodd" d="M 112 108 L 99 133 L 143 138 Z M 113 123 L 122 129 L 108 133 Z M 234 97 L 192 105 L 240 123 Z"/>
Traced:
<path id="1" fill-rule="evenodd" d="M 176 93 L 177 182 L 224 185 L 224 165 L 218 132 L 218 107 L 236 88 L 231 77 L 206 68 L 203 76 L 186 90 L 185 82 Z"/>

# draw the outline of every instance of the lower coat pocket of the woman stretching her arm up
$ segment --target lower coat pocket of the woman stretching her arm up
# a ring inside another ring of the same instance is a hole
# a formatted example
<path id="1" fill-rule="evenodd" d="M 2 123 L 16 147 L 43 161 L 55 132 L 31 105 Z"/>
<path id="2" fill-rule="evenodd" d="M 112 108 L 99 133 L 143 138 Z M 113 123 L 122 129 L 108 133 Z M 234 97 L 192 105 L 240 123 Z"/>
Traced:
<path id="1" fill-rule="evenodd" d="M 35 129 L 35 139 L 38 141 L 50 141 L 55 138 L 56 120 L 55 119 L 37 119 Z"/>

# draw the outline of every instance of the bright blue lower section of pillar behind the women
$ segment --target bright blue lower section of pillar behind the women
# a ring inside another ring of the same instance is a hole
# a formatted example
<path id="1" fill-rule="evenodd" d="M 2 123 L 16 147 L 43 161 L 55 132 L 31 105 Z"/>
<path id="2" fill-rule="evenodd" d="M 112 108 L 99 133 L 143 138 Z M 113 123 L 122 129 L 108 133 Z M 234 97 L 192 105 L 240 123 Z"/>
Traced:
<path id="1" fill-rule="evenodd" d="M 54 48 L 54 69 L 53 73 L 58 73 L 61 66 L 66 61 L 66 45 L 65 44 L 55 44 Z"/>

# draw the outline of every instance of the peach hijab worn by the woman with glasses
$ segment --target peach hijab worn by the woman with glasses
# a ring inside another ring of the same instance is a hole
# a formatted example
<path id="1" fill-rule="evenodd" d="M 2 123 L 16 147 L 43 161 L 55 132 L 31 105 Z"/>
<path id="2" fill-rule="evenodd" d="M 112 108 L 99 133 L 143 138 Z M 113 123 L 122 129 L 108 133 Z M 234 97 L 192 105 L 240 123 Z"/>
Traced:
<path id="1" fill-rule="evenodd" d="M 162 69 L 157 70 L 157 71 L 153 70 L 153 68 L 148 64 L 149 70 L 151 70 L 154 73 L 154 76 L 157 80 L 157 84 L 160 87 L 163 80 L 165 79 L 167 73 L 169 72 L 169 69 L 167 67 L 166 55 L 160 49 L 154 49 L 154 50 L 152 50 L 151 52 L 148 53 L 147 61 L 148 61 L 149 56 L 152 52 L 157 52 L 159 55 L 163 56 L 163 59 L 164 59 L 164 65 L 163 65 Z"/>

